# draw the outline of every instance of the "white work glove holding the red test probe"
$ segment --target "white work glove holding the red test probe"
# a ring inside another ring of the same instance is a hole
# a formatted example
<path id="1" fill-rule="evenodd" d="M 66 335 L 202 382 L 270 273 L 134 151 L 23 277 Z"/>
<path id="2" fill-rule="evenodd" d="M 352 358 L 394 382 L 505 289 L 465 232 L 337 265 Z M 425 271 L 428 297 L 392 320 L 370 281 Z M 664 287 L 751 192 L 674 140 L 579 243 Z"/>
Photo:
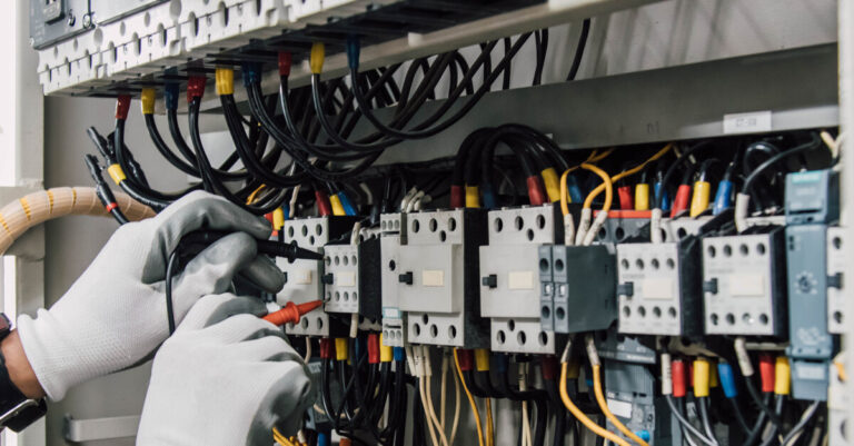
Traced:
<path id="1" fill-rule="evenodd" d="M 299 428 L 315 395 L 257 299 L 206 296 L 155 356 L 137 446 L 239 446 Z M 237 315 L 237 316 L 234 316 Z"/>

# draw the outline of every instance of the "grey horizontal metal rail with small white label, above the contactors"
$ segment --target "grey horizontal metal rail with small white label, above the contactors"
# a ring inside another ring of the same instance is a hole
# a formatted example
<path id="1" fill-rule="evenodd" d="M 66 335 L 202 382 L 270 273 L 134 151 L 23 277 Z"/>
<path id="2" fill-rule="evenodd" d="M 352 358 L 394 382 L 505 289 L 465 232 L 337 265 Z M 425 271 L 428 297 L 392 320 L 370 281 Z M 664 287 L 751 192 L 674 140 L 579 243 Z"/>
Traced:
<path id="1" fill-rule="evenodd" d="M 496 122 L 519 122 L 580 149 L 723 135 L 727 113 L 769 110 L 773 131 L 838 125 L 836 44 L 822 44 L 575 82 L 496 91 L 443 133 L 445 141 Z M 423 107 L 413 122 L 444 101 Z M 377 115 L 386 119 L 389 110 Z M 407 141 L 379 163 L 456 153 L 458 143 Z"/>

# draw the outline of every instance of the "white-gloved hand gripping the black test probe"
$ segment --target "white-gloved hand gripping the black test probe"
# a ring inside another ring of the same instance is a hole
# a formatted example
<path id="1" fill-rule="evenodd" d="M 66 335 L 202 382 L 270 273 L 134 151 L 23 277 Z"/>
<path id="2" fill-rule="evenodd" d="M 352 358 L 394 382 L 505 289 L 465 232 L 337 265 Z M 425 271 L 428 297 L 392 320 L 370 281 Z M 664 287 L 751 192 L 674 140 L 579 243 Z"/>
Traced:
<path id="1" fill-rule="evenodd" d="M 50 310 L 18 318 L 23 350 L 46 394 L 131 367 L 169 336 L 165 276 L 169 255 L 187 232 L 234 230 L 211 244 L 172 278 L 176 324 L 201 296 L 227 291 L 240 272 L 276 293 L 285 278 L 256 254 L 269 225 L 234 204 L 192 192 L 158 216 L 121 226 L 98 257 Z"/>

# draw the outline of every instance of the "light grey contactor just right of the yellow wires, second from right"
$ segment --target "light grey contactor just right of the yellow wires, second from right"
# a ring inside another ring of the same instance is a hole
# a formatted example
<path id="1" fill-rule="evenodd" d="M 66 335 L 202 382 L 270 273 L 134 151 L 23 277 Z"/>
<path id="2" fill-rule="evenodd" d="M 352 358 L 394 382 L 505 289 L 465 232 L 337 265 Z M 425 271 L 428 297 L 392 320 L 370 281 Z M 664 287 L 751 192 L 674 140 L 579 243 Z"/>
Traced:
<path id="1" fill-rule="evenodd" d="M 702 333 L 701 242 L 617 245 L 619 333 L 693 336 Z"/>

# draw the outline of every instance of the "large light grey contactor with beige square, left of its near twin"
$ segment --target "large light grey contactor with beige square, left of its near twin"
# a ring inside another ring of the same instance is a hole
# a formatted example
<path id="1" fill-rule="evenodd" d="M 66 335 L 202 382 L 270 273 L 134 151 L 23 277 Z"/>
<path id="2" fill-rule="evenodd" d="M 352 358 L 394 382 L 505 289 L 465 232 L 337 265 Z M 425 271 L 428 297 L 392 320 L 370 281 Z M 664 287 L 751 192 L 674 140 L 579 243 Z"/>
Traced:
<path id="1" fill-rule="evenodd" d="M 489 346 L 480 318 L 478 247 L 486 245 L 486 211 L 408 214 L 397 261 L 398 308 L 407 340 L 465 348 Z"/>

